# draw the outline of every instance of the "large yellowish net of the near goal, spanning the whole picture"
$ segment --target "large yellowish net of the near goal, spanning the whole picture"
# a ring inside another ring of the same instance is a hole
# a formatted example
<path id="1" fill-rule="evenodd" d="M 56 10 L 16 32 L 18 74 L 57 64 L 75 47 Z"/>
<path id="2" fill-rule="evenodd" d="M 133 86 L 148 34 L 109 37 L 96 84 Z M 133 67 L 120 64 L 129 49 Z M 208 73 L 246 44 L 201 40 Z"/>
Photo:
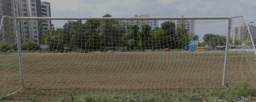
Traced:
<path id="1" fill-rule="evenodd" d="M 179 99 L 256 84 L 256 28 L 243 16 L 1 21 L 0 97 Z"/>

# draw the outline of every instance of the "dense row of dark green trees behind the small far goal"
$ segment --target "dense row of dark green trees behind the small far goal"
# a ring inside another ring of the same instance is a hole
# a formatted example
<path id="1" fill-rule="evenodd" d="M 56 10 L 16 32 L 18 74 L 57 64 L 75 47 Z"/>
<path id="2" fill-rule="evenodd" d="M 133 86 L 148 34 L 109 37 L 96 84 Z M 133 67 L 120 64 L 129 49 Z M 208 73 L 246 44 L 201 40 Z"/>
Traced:
<path id="1" fill-rule="evenodd" d="M 106 14 L 103 17 L 112 17 Z M 165 21 L 161 28 L 151 30 L 143 25 L 125 25 L 118 20 L 68 21 L 62 28 L 48 30 L 42 44 L 50 49 L 63 47 L 81 49 L 105 49 L 105 47 L 126 47 L 127 49 L 185 48 L 189 45 L 189 35 L 185 25 L 175 26 Z"/>

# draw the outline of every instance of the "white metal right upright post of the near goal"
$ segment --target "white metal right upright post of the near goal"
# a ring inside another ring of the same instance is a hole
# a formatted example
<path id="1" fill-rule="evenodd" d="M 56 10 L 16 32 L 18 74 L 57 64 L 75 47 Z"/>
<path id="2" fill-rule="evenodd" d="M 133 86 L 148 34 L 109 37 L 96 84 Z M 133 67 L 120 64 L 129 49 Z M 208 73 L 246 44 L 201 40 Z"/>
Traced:
<path id="1" fill-rule="evenodd" d="M 231 19 L 228 19 L 228 36 L 227 36 L 227 42 L 226 42 L 222 86 L 225 86 L 225 83 L 226 83 L 226 71 L 227 71 L 227 65 L 228 65 L 228 49 L 229 49 L 228 47 L 229 47 L 230 30 L 231 30 Z"/>

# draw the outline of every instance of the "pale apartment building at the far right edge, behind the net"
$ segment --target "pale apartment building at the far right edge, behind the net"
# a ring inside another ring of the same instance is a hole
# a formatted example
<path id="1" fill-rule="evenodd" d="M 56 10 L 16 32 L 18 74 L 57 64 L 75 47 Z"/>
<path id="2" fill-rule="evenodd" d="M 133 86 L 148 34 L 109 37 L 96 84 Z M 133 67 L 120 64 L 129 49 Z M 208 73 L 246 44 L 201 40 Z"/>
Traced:
<path id="1" fill-rule="evenodd" d="M 256 26 L 249 25 L 249 29 L 250 29 L 251 34 L 252 34 L 252 39 L 256 39 Z M 232 38 L 233 43 L 235 43 L 236 39 L 239 40 L 243 37 L 246 37 L 246 38 L 249 37 L 248 27 L 247 27 L 246 24 L 244 24 L 240 27 L 236 27 L 235 28 L 235 33 L 231 34 L 231 38 Z"/>

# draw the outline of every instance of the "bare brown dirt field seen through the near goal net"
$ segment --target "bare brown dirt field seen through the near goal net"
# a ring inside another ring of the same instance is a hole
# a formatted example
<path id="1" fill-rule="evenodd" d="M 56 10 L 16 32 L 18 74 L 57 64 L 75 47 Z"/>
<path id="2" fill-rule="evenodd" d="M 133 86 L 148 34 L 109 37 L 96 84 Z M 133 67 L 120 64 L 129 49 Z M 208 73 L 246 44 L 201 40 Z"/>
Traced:
<path id="1" fill-rule="evenodd" d="M 22 54 L 24 86 L 47 96 L 67 91 L 189 92 L 221 86 L 224 52 L 163 52 L 122 54 Z M 229 53 L 227 83 L 243 78 L 256 83 L 253 53 Z M 0 96 L 21 88 L 17 54 L 0 55 Z M 25 96 L 25 95 L 24 95 Z"/>

